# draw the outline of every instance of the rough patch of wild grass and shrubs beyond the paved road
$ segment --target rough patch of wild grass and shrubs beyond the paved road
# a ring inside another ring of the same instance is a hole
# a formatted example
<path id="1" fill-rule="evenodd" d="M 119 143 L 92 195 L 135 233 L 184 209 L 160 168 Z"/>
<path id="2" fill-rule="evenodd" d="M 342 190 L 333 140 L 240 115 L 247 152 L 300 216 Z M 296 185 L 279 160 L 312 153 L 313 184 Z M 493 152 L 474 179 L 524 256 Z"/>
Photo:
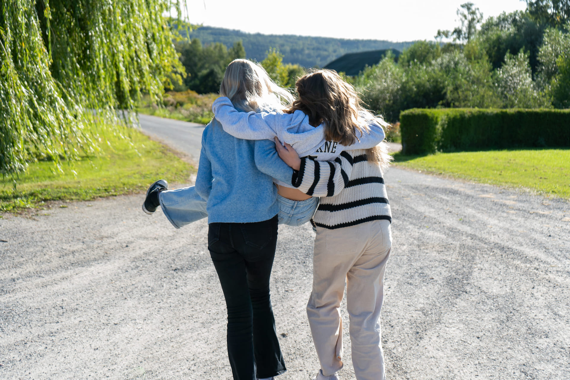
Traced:
<path id="1" fill-rule="evenodd" d="M 143 97 L 137 111 L 145 115 L 208 124 L 214 117 L 212 103 L 219 95 L 200 95 L 194 91 L 169 91 L 164 96 L 164 107 L 153 104 L 148 96 Z"/>

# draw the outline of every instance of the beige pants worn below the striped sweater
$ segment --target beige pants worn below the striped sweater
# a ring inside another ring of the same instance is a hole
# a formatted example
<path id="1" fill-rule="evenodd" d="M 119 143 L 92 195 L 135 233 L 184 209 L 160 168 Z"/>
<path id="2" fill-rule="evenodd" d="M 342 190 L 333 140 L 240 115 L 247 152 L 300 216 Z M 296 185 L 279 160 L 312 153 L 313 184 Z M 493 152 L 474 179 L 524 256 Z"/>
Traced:
<path id="1" fill-rule="evenodd" d="M 384 379 L 380 310 L 392 247 L 388 220 L 328 230 L 317 227 L 307 316 L 325 376 L 343 367 L 340 303 L 347 284 L 352 363 L 358 380 Z"/>

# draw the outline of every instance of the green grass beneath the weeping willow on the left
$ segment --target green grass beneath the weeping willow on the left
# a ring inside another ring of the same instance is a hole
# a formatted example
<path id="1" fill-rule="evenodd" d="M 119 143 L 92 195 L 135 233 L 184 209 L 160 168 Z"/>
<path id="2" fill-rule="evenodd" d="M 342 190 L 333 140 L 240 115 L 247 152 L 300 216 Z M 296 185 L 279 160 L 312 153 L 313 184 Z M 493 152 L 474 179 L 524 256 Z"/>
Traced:
<path id="1" fill-rule="evenodd" d="M 53 162 L 39 161 L 19 175 L 16 190 L 11 178 L 0 179 L 0 211 L 42 207 L 48 201 L 61 201 L 66 207 L 65 201 L 139 193 L 160 178 L 188 182 L 194 168 L 172 150 L 137 130 L 120 128 L 130 139 L 108 137 L 111 146 L 105 146 L 103 154 L 64 163 L 63 174 L 55 173 Z"/>

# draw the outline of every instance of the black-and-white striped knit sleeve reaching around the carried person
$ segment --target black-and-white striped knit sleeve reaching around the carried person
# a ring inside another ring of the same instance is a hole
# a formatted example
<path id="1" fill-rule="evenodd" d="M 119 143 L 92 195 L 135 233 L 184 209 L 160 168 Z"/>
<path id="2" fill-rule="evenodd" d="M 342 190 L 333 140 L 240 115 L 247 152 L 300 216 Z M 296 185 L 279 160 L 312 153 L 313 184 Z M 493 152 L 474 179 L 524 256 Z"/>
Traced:
<path id="1" fill-rule="evenodd" d="M 347 151 L 335 161 L 315 161 L 304 157 L 299 171 L 292 176 L 291 184 L 313 197 L 333 197 L 348 185 L 353 161 Z"/>

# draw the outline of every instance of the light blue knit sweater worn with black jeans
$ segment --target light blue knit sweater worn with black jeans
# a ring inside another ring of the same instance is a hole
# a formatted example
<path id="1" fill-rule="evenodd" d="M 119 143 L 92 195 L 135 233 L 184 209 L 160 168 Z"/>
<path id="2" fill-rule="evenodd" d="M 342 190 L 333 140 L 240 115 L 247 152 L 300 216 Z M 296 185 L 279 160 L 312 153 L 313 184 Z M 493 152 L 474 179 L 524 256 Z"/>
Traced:
<path id="1" fill-rule="evenodd" d="M 208 223 L 251 223 L 279 211 L 272 177 L 291 182 L 293 169 L 270 140 L 241 140 L 215 119 L 202 133 L 196 192 L 207 200 Z"/>

